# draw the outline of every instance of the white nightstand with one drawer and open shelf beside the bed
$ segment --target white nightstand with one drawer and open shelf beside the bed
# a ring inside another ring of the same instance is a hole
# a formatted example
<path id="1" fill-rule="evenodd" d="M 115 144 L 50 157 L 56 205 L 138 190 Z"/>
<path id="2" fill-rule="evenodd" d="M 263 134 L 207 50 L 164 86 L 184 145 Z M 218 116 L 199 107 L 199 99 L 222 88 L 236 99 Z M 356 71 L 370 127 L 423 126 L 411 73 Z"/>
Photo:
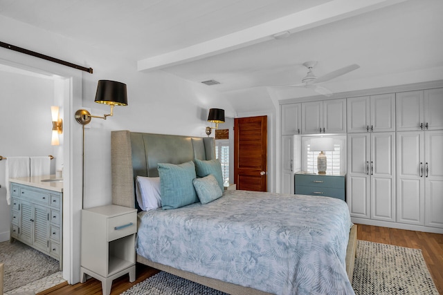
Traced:
<path id="1" fill-rule="evenodd" d="M 112 280 L 129 274 L 136 280 L 137 209 L 106 205 L 82 210 L 81 283 L 86 276 L 102 282 L 103 295 Z"/>

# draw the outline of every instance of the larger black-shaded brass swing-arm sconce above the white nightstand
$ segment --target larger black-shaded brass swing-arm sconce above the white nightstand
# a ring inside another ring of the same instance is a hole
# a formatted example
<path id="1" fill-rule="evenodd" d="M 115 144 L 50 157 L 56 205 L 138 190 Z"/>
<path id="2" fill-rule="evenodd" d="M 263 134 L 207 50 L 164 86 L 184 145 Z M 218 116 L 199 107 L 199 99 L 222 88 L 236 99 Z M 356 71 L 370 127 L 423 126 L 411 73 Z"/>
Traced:
<path id="1" fill-rule="evenodd" d="M 106 117 L 112 116 L 114 106 L 127 106 L 126 84 L 116 81 L 99 80 L 97 85 L 96 100 L 98 104 L 109 104 L 111 113 L 107 115 L 91 115 L 87 110 L 78 110 L 75 112 L 75 120 L 82 125 L 89 124 L 93 117 L 106 120 Z"/>

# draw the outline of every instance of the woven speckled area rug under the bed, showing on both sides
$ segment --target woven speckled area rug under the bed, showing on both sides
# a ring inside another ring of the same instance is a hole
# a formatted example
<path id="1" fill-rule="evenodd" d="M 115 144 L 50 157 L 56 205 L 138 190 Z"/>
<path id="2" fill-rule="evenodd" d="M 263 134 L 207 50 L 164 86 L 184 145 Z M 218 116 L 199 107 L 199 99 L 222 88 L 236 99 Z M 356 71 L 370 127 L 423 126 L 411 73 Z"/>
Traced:
<path id="1" fill-rule="evenodd" d="M 352 287 L 356 295 L 439 295 L 422 250 L 358 241 Z M 147 278 L 122 295 L 224 295 L 166 272 Z"/>

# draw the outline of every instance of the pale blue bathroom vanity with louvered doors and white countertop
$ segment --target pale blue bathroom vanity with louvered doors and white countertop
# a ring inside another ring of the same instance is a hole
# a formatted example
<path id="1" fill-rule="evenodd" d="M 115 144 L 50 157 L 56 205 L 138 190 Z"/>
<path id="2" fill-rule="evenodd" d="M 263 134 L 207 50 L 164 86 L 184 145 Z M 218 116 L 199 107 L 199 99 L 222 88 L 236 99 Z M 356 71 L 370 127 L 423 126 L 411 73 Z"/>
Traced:
<path id="1" fill-rule="evenodd" d="M 10 179 L 10 240 L 59 260 L 62 269 L 63 184 L 41 182 L 48 177 Z"/>

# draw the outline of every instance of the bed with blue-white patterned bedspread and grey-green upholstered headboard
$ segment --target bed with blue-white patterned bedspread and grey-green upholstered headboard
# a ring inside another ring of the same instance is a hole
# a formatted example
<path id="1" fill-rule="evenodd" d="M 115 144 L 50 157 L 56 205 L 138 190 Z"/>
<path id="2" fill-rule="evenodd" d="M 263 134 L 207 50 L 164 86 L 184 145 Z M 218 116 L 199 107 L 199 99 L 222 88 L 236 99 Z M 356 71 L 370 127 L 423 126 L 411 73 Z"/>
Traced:
<path id="1" fill-rule="evenodd" d="M 113 203 L 138 207 L 136 176 L 157 177 L 159 163 L 214 158 L 212 137 L 113 131 Z M 356 225 L 341 200 L 224 191 L 208 204 L 140 211 L 138 220 L 138 263 L 222 292 L 354 294 Z"/>

